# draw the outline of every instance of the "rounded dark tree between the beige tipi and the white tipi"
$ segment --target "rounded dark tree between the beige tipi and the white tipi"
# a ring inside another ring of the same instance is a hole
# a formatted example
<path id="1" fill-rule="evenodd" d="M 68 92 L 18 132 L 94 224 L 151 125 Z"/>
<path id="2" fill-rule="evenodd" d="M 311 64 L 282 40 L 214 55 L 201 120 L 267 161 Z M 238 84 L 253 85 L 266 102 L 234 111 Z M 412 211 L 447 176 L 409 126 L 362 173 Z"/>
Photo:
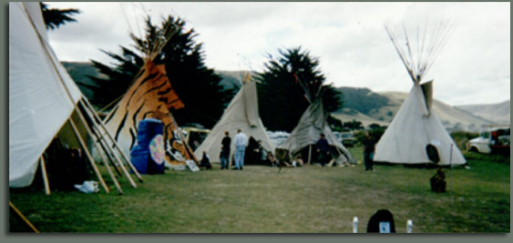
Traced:
<path id="1" fill-rule="evenodd" d="M 301 46 L 278 50 L 269 55 L 262 73 L 257 73 L 259 110 L 269 130 L 292 131 L 304 110 L 317 96 L 322 96 L 327 112 L 342 108 L 342 93 L 333 86 L 323 86 L 325 77 L 319 70 L 319 59 Z"/>

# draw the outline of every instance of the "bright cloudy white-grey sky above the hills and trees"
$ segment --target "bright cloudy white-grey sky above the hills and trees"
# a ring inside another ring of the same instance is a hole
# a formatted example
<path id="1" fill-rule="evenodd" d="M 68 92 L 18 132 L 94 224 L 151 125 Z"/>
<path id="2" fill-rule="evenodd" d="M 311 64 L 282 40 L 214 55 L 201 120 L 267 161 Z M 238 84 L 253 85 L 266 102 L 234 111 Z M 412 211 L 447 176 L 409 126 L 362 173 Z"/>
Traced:
<path id="1" fill-rule="evenodd" d="M 200 35 L 207 66 L 261 71 L 267 55 L 302 46 L 320 59 L 334 86 L 407 92 L 412 86 L 384 24 L 416 33 L 417 26 L 454 28 L 425 80 L 435 79 L 436 99 L 449 105 L 509 99 L 509 3 L 48 3 L 82 11 L 77 23 L 50 31 L 64 61 L 110 63 L 100 49 L 119 52 L 139 35 L 143 19 L 176 15 Z M 432 30 L 433 28 L 427 28 Z"/>

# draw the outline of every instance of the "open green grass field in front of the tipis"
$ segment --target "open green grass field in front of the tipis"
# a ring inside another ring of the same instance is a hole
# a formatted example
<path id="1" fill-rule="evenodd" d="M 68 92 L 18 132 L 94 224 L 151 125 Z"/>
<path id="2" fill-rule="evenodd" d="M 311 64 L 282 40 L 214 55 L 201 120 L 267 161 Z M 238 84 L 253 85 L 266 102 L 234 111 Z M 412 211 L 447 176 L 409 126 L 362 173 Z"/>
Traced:
<path id="1" fill-rule="evenodd" d="M 361 147 L 351 148 L 362 161 Z M 394 214 L 405 233 L 510 232 L 510 158 L 466 154 L 470 169 L 446 169 L 446 193 L 430 190 L 435 169 L 374 166 L 285 168 L 242 171 L 167 171 L 143 176 L 138 188 L 120 179 L 115 190 L 13 191 L 10 200 L 41 232 L 159 233 L 351 233 L 374 212 Z M 105 177 L 108 179 L 108 177 Z M 112 185 L 108 181 L 108 185 Z M 10 231 L 27 231 L 12 214 Z"/>

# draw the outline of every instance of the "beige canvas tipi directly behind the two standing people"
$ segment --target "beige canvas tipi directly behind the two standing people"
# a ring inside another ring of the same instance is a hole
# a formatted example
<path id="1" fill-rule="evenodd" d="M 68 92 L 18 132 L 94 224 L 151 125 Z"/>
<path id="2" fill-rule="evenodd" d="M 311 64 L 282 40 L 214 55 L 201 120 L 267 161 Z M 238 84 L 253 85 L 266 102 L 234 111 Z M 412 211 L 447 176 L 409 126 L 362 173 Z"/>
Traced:
<path id="1" fill-rule="evenodd" d="M 220 121 L 212 128 L 208 137 L 203 140 L 200 147 L 196 148 L 196 157 L 202 157 L 206 151 L 210 161 L 219 162 L 221 153 L 221 140 L 224 132 L 228 131 L 231 137 L 231 154 L 235 152 L 233 137 L 237 129 L 241 129 L 250 139 L 251 137 L 262 141 L 262 147 L 273 153 L 274 146 L 267 136 L 265 127 L 258 113 L 257 89 L 254 81 L 244 80 L 241 89 L 233 97 L 230 105 L 224 110 Z"/>

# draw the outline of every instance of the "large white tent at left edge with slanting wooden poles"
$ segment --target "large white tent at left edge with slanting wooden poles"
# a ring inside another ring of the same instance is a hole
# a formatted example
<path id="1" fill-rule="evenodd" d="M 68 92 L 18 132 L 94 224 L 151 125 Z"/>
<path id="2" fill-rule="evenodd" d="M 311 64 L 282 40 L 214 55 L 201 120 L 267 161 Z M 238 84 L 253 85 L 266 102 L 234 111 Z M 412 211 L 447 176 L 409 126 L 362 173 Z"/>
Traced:
<path id="1" fill-rule="evenodd" d="M 47 178 L 44 153 L 54 138 L 69 147 L 81 147 L 108 192 L 90 147 L 101 150 L 108 173 L 122 193 L 110 165 L 124 172 L 128 171 L 124 163 L 133 166 L 56 58 L 39 3 L 9 3 L 9 187 L 31 185 L 38 167 Z M 46 179 L 45 186 L 49 194 Z"/>

